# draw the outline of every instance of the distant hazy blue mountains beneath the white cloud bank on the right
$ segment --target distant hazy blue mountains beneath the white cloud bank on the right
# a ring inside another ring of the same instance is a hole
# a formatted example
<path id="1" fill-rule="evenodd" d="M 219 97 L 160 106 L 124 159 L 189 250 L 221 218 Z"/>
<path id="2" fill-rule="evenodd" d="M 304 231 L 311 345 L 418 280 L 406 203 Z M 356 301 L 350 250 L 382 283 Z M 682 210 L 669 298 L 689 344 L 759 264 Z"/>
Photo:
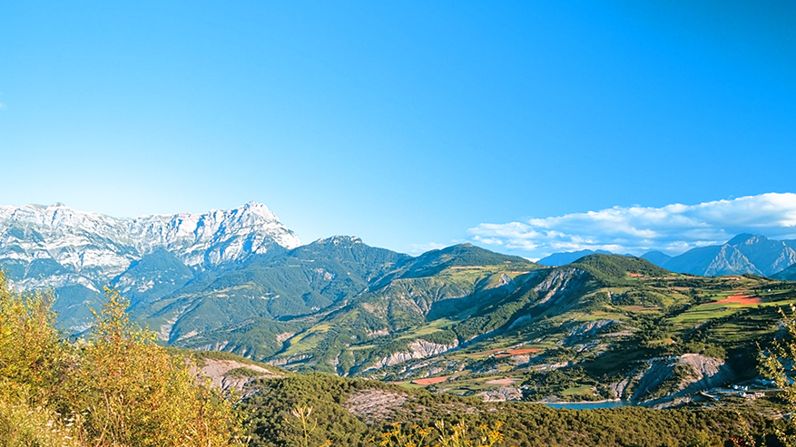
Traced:
<path id="1" fill-rule="evenodd" d="M 555 253 L 539 259 L 545 266 L 560 266 L 604 250 Z M 641 256 L 658 267 L 701 277 L 752 273 L 772 277 L 796 264 L 796 240 L 771 240 L 762 235 L 740 234 L 720 246 L 692 248 L 682 255 L 668 256 L 650 251 Z"/>

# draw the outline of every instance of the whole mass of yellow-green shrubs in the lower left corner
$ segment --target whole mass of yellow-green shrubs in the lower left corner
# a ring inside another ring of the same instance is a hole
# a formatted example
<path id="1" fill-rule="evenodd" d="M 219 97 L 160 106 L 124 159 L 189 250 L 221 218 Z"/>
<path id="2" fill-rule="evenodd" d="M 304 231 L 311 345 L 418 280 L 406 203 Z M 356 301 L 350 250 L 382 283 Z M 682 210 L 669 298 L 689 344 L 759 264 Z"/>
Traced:
<path id="1" fill-rule="evenodd" d="M 106 298 L 90 339 L 69 345 L 52 296 L 16 293 L 0 272 L 0 447 L 240 442 L 233 403 L 133 326 L 118 292 Z"/>

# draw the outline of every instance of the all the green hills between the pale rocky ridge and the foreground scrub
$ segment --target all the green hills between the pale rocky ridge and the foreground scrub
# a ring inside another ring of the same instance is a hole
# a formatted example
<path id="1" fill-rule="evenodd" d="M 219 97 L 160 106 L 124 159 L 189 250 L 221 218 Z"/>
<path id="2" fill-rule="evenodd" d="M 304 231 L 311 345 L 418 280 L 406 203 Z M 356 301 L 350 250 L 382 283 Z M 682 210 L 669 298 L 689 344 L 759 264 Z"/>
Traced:
<path id="1" fill-rule="evenodd" d="M 133 310 L 172 345 L 295 372 L 487 400 L 668 405 L 751 380 L 756 344 L 794 291 L 642 258 L 542 267 L 468 244 L 411 258 L 330 238 L 205 272 Z"/>

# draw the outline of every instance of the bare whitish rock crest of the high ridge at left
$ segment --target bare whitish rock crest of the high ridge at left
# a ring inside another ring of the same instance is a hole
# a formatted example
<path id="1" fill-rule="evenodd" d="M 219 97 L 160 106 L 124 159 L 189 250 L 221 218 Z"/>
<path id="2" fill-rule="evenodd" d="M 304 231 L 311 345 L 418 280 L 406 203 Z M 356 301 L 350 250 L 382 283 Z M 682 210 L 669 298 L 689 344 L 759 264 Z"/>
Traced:
<path id="1" fill-rule="evenodd" d="M 0 263 L 25 288 L 25 283 L 38 287 L 44 275 L 58 274 L 104 283 L 159 248 L 186 266 L 205 269 L 298 246 L 295 233 L 257 202 L 204 214 L 134 219 L 116 219 L 61 203 L 0 206 Z M 39 271 L 42 268 L 44 273 Z"/>

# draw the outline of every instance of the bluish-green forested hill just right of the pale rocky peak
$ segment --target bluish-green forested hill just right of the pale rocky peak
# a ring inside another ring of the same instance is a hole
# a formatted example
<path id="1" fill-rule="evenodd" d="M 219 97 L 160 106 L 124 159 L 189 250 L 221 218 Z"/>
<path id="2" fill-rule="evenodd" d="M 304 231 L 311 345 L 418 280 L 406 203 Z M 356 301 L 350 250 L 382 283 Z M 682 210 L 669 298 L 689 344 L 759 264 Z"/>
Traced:
<path id="1" fill-rule="evenodd" d="M 357 238 L 320 239 L 241 266 L 202 272 L 175 293 L 135 306 L 133 312 L 149 326 L 160 328 L 162 338 L 174 345 L 202 346 L 217 331 L 240 335 L 242 326 L 273 326 L 328 309 L 361 294 L 373 278 L 407 259 L 407 255 L 371 248 Z M 201 340 L 190 340 L 194 336 Z M 221 337 L 211 344 L 234 341 L 231 348 L 260 356 L 278 350 L 278 342 L 271 337 L 257 345 L 246 344 L 246 337 Z"/>

